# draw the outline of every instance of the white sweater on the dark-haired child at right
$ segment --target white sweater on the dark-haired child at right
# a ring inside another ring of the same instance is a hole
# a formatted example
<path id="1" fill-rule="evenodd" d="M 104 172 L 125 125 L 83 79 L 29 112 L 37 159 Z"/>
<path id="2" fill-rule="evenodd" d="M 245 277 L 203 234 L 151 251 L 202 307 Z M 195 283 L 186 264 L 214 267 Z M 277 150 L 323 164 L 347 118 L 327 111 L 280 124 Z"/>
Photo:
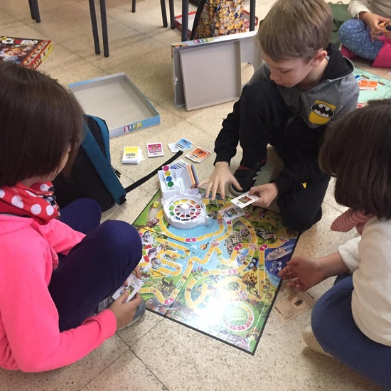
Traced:
<path id="1" fill-rule="evenodd" d="M 371 218 L 361 237 L 338 252 L 353 272 L 355 323 L 371 340 L 391 346 L 391 220 Z"/>

